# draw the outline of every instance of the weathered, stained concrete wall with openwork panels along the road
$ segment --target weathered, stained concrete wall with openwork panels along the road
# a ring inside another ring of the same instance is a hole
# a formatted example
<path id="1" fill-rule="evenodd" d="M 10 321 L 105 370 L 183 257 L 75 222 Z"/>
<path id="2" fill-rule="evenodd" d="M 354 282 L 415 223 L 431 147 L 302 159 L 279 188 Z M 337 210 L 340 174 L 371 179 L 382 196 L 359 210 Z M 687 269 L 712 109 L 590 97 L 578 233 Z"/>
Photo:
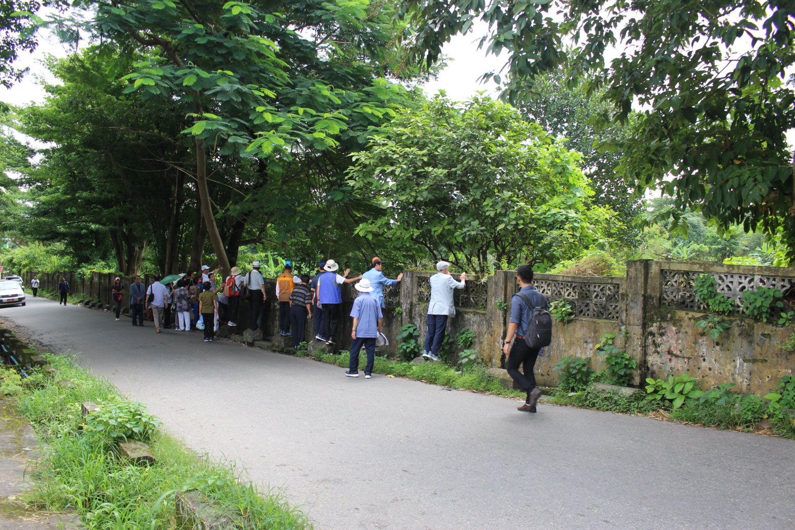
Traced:
<path id="1" fill-rule="evenodd" d="M 355 273 L 358 274 L 358 273 Z M 693 286 L 700 274 L 711 274 L 719 293 L 739 300 L 744 290 L 758 286 L 775 286 L 785 292 L 795 285 L 793 267 L 747 267 L 740 265 L 690 264 L 665 261 L 634 260 L 627 262 L 626 278 L 536 275 L 535 285 L 549 299 L 564 299 L 572 306 L 575 317 L 567 324 L 555 322 L 553 343 L 545 357 L 536 364 L 539 384 L 553 385 L 557 373 L 553 367 L 562 357 L 592 357 L 591 365 L 600 369 L 594 347 L 605 333 L 617 333 L 617 344 L 638 361 L 634 384 L 646 377 L 666 378 L 689 373 L 703 380 L 702 388 L 720 383 L 735 383 L 735 390 L 764 395 L 778 378 L 793 373 L 793 356 L 779 346 L 789 339 L 795 327 L 781 327 L 745 318 L 741 310 L 723 317 L 731 328 L 713 341 L 696 322 L 709 316 L 709 311 L 696 300 Z M 115 275 L 93 273 L 90 282 L 76 282 L 76 275 L 59 272 L 39 275 L 41 286 L 56 288 L 64 275 L 73 293 L 83 298 L 99 299 L 110 304 L 110 286 Z M 395 337 L 401 325 L 415 324 L 425 338 L 429 278 L 432 273 L 405 271 L 403 281 L 387 287 L 384 331 L 390 346 L 382 353 L 393 355 L 397 350 Z M 25 273 L 29 285 L 32 273 Z M 126 286 L 132 279 L 122 278 Z M 142 279 L 147 285 L 150 277 Z M 351 345 L 351 306 L 358 291 L 352 284 L 342 286 L 343 307 L 337 332 L 339 349 Z M 506 335 L 510 307 L 502 303 L 518 290 L 515 271 L 497 271 L 487 279 L 467 278 L 467 287 L 456 290 L 456 316 L 448 321 L 448 334 L 461 329 L 475 333 L 471 349 L 481 353 L 485 364 L 505 366 L 502 340 Z M 266 279 L 267 302 L 263 314 L 266 337 L 278 333 L 278 302 L 276 280 Z M 129 304 L 129 287 L 124 304 Z M 789 309 L 789 308 L 788 308 Z M 778 321 L 778 315 L 772 322 Z M 238 329 L 248 327 L 248 306 L 242 303 Z M 315 337 L 313 322 L 308 322 L 304 340 Z M 455 360 L 455 359 L 454 359 Z"/>

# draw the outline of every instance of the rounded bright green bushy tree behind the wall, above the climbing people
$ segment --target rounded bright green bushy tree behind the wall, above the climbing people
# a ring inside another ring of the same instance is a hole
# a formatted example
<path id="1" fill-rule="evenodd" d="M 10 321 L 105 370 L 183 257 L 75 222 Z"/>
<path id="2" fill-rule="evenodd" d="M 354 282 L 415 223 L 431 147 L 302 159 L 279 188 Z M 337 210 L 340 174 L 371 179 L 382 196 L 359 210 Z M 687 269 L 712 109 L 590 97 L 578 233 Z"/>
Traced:
<path id="1" fill-rule="evenodd" d="M 355 155 L 350 185 L 382 213 L 359 225 L 395 248 L 422 247 L 485 274 L 506 265 L 555 263 L 605 244 L 615 212 L 588 207 L 580 154 L 505 103 L 437 96 L 401 111 Z"/>

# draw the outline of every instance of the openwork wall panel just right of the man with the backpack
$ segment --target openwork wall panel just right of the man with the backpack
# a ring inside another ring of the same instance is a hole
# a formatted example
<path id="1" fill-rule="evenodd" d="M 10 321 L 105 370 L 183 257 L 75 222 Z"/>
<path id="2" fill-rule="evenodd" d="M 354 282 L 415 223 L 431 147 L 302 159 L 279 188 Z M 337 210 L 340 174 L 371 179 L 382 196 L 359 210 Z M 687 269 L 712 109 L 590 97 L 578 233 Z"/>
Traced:
<path id="1" fill-rule="evenodd" d="M 577 317 L 619 320 L 621 286 L 618 283 L 536 280 L 534 285 L 549 302 L 554 300 L 568 302 Z M 519 286 L 516 286 L 516 290 L 519 290 Z"/>

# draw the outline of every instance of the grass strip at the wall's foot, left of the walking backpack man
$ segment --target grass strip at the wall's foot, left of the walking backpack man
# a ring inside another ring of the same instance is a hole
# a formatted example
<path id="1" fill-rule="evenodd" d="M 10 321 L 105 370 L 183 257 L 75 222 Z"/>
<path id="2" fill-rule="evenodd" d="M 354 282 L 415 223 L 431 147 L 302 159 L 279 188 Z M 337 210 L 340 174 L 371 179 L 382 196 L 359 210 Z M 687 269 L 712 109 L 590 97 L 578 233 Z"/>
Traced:
<path id="1" fill-rule="evenodd" d="M 336 364 L 339 367 L 347 368 L 350 360 L 350 353 L 343 352 L 339 355 L 328 355 L 320 353 L 316 355 L 316 360 L 325 363 Z M 366 355 L 359 355 L 359 368 L 366 365 Z M 443 387 L 464 388 L 475 390 L 476 392 L 488 392 L 495 396 L 505 397 L 525 397 L 525 392 L 519 390 L 509 390 L 491 376 L 486 368 L 475 366 L 463 371 L 456 371 L 447 364 L 441 362 L 425 362 L 423 364 L 411 364 L 401 360 L 389 359 L 386 357 L 375 357 L 373 366 L 375 373 L 385 376 L 405 377 L 406 379 L 425 381 L 426 383 L 438 384 Z"/>

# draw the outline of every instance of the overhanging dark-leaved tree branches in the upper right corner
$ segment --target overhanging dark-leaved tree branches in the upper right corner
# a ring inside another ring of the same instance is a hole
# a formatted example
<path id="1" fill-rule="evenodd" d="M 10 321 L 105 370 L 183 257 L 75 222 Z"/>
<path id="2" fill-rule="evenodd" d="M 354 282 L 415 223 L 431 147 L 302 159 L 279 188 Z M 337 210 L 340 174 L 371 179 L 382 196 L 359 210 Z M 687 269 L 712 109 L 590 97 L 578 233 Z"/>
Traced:
<path id="1" fill-rule="evenodd" d="M 490 23 L 483 44 L 507 53 L 506 96 L 566 63 L 588 72 L 588 90 L 604 91 L 612 115 L 639 110 L 622 142 L 624 170 L 638 193 L 661 188 L 674 197 L 673 229 L 686 208 L 724 231 L 742 224 L 783 236 L 795 252 L 793 154 L 795 4 L 721 0 L 660 2 L 470 2 L 405 0 L 417 26 L 414 48 L 429 64 L 476 18 Z M 549 16 L 553 13 L 560 16 Z M 577 43 L 568 49 L 571 41 Z M 619 57 L 607 64 L 615 46 Z M 573 80 L 573 78 L 572 78 Z"/>

